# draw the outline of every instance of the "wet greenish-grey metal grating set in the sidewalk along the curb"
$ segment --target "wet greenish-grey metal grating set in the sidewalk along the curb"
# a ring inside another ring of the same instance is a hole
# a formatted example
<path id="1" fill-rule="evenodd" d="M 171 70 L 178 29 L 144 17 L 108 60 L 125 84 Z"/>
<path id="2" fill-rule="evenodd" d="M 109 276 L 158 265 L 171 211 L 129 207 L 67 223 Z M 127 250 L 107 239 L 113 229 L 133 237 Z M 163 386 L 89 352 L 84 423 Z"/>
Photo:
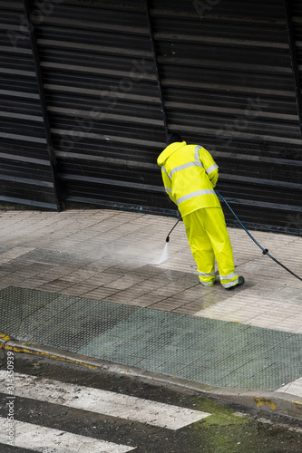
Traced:
<path id="1" fill-rule="evenodd" d="M 302 335 L 10 287 L 0 332 L 200 383 L 276 390 L 301 376 Z"/>

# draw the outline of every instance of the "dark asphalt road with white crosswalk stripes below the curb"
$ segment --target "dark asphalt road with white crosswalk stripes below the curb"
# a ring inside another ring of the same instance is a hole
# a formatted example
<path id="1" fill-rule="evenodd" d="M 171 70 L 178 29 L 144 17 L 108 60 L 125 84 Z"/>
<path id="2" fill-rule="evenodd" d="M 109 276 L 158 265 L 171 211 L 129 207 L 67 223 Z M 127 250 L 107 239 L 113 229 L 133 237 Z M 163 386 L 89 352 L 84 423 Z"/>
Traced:
<path id="1" fill-rule="evenodd" d="M 125 374 L 0 350 L 0 382 L 1 453 L 302 451 L 299 420 Z"/>

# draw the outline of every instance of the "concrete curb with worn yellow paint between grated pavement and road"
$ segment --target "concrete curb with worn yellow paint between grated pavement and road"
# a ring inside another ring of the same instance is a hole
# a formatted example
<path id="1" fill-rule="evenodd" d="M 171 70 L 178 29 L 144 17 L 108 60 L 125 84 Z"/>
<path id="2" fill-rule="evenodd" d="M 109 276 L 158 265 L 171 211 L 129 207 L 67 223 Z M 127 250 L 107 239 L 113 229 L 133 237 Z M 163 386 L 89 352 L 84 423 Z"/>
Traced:
<path id="1" fill-rule="evenodd" d="M 103 370 L 116 374 L 125 374 L 141 381 L 148 381 L 156 385 L 164 385 L 175 390 L 200 393 L 203 396 L 216 398 L 248 408 L 267 411 L 271 414 L 280 414 L 295 419 L 302 419 L 302 399 L 288 393 L 276 390 L 241 390 L 211 387 L 195 381 L 187 381 L 173 376 L 146 371 L 141 368 L 129 367 L 121 363 L 103 361 L 93 357 L 73 352 L 67 352 L 43 344 L 22 342 L 9 335 L 0 333 L 0 349 L 27 354 L 41 355 L 56 361 L 65 361 L 82 365 L 93 370 Z"/>

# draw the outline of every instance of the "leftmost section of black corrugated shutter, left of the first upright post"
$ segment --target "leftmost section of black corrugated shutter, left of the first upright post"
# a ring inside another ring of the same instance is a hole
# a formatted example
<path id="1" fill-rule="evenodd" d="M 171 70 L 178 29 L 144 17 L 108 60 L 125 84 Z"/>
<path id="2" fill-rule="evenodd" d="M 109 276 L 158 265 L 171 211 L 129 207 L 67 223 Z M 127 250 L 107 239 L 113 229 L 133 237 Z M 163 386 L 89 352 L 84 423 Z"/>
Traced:
<path id="1" fill-rule="evenodd" d="M 58 208 L 22 2 L 0 2 L 0 200 Z"/>

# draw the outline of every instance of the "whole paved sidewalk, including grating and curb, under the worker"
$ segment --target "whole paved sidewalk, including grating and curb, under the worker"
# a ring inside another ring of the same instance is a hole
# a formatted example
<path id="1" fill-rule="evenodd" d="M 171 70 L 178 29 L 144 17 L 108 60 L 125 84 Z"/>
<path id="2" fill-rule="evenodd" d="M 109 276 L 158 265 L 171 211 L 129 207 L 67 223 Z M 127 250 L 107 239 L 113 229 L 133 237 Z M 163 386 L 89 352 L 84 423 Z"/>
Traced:
<path id="1" fill-rule="evenodd" d="M 182 222 L 156 264 L 174 224 L 102 209 L 3 212 L 0 347 L 302 417 L 302 282 L 229 228 L 246 284 L 202 286 Z M 253 236 L 302 275 L 301 237 Z"/>

